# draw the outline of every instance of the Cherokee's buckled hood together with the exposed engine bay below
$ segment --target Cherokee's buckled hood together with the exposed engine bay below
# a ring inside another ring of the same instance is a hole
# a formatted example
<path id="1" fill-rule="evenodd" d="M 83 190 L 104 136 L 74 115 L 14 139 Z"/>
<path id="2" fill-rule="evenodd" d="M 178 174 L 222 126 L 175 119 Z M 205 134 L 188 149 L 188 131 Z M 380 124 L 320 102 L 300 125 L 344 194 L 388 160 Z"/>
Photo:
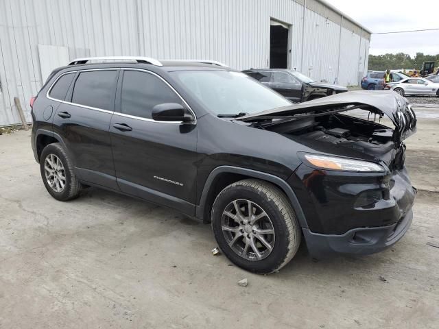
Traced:
<path id="1" fill-rule="evenodd" d="M 383 116 L 394 128 L 377 122 Z M 319 153 L 366 157 L 384 162 L 390 170 L 403 167 L 403 140 L 416 132 L 416 115 L 410 104 L 392 91 L 342 93 L 239 120 L 283 134 Z"/>

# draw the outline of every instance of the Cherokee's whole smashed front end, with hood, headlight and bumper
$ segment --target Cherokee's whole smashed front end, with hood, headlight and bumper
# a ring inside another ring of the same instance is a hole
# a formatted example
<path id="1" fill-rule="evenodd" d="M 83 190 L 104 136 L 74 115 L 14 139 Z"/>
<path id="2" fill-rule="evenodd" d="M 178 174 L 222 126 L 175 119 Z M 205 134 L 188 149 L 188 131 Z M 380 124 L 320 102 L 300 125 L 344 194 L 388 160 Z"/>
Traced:
<path id="1" fill-rule="evenodd" d="M 416 115 L 405 98 L 348 92 L 239 120 L 302 145 L 288 183 L 307 218 L 312 256 L 379 252 L 410 227 L 416 189 L 403 141 L 416 132 Z"/>

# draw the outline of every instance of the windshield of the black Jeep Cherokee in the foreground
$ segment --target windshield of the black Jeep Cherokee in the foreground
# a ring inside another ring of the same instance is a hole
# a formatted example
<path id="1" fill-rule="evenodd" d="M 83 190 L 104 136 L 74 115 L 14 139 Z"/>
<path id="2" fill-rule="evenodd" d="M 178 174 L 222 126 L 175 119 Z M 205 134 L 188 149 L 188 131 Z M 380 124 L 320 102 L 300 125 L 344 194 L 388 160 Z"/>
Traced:
<path id="1" fill-rule="evenodd" d="M 215 114 L 234 115 L 292 105 L 244 73 L 231 71 L 174 71 L 187 92 Z"/>

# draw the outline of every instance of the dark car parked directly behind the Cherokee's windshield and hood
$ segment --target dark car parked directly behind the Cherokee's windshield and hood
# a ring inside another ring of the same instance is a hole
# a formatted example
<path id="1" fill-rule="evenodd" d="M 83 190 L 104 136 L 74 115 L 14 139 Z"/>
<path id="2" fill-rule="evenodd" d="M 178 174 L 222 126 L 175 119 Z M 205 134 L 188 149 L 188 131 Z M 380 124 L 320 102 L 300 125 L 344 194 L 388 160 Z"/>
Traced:
<path id="1" fill-rule="evenodd" d="M 315 82 L 298 71 L 287 69 L 250 69 L 243 73 L 254 77 L 294 103 L 348 91 L 346 87 Z"/>

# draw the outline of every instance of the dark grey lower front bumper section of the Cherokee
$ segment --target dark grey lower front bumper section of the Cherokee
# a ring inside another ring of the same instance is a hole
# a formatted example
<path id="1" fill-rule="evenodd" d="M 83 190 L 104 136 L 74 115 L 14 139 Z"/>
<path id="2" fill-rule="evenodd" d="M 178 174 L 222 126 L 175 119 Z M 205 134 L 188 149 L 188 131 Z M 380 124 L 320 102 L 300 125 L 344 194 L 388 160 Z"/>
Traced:
<path id="1" fill-rule="evenodd" d="M 398 223 L 377 228 L 353 228 L 337 234 L 313 233 L 302 228 L 308 251 L 313 258 L 324 258 L 331 254 L 367 255 L 381 252 L 398 242 L 410 228 L 412 209 Z"/>

